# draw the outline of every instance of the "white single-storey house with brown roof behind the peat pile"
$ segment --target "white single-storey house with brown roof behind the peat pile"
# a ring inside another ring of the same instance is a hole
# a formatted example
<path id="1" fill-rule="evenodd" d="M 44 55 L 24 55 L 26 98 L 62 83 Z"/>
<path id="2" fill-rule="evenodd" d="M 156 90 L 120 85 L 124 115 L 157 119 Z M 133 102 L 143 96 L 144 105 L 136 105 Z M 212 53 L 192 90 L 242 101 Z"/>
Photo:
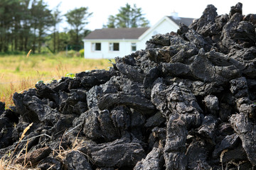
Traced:
<path id="1" fill-rule="evenodd" d="M 151 28 L 96 29 L 83 39 L 85 58 L 124 57 L 137 50 L 145 49 L 146 41 L 153 35 L 176 32 L 179 23 L 189 26 L 192 22 L 193 18 L 164 16 Z"/>

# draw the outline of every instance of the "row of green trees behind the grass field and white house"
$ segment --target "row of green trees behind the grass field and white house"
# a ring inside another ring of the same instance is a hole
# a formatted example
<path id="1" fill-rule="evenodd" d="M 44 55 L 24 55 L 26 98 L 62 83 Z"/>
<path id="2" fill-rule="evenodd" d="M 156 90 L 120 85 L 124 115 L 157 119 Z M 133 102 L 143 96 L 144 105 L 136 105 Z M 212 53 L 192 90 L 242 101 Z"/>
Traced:
<path id="1" fill-rule="evenodd" d="M 65 21 L 70 29 L 60 32 L 58 24 Z M 59 6 L 50 9 L 43 0 L 0 0 L 0 52 L 40 53 L 42 47 L 51 52 L 66 50 L 73 46 L 80 50 L 86 29 L 87 18 L 92 16 L 88 7 L 75 8 L 64 15 Z M 129 4 L 121 7 L 116 16 L 109 16 L 104 28 L 145 27 L 149 21 L 143 17 L 142 8 Z"/>

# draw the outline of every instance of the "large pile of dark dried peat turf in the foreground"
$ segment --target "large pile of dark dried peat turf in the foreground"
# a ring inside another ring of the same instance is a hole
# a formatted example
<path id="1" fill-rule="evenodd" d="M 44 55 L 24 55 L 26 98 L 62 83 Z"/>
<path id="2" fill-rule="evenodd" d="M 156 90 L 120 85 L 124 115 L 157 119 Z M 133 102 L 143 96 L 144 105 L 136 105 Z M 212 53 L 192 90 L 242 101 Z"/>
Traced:
<path id="1" fill-rule="evenodd" d="M 14 107 L 0 105 L 1 157 L 40 169 L 253 169 L 255 28 L 240 3 L 222 16 L 208 5 L 109 71 L 14 94 Z"/>

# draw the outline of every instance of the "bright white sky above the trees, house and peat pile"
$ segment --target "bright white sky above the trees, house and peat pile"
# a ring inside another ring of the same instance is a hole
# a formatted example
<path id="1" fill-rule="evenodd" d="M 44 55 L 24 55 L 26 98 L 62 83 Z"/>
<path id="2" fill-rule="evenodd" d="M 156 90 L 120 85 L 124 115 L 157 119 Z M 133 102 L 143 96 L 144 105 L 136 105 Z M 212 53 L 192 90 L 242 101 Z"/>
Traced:
<path id="1" fill-rule="evenodd" d="M 125 4 L 137 5 L 142 8 L 144 17 L 149 20 L 150 26 L 154 26 L 164 16 L 170 16 L 172 12 L 178 13 L 180 17 L 200 18 L 204 9 L 208 4 L 213 4 L 217 8 L 218 15 L 229 13 L 230 7 L 235 6 L 238 2 L 242 3 L 242 14 L 256 13 L 255 0 L 44 0 L 50 9 L 59 6 L 59 10 L 64 15 L 70 10 L 88 7 L 88 11 L 92 12 L 92 16 L 88 18 L 88 24 L 85 26 L 88 30 L 102 28 L 107 24 L 107 18 L 110 15 L 115 16 L 121 6 Z M 68 24 L 63 18 L 63 22 L 58 26 L 60 30 L 68 28 Z"/>

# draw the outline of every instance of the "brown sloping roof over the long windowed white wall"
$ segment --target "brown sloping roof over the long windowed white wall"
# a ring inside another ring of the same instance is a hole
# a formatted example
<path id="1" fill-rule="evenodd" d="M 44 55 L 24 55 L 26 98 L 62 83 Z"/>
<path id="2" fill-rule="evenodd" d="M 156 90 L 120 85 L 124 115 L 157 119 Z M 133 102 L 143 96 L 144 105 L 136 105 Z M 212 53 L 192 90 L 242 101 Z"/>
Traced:
<path id="1" fill-rule="evenodd" d="M 85 39 L 138 39 L 149 28 L 102 28 L 93 30 Z"/>

